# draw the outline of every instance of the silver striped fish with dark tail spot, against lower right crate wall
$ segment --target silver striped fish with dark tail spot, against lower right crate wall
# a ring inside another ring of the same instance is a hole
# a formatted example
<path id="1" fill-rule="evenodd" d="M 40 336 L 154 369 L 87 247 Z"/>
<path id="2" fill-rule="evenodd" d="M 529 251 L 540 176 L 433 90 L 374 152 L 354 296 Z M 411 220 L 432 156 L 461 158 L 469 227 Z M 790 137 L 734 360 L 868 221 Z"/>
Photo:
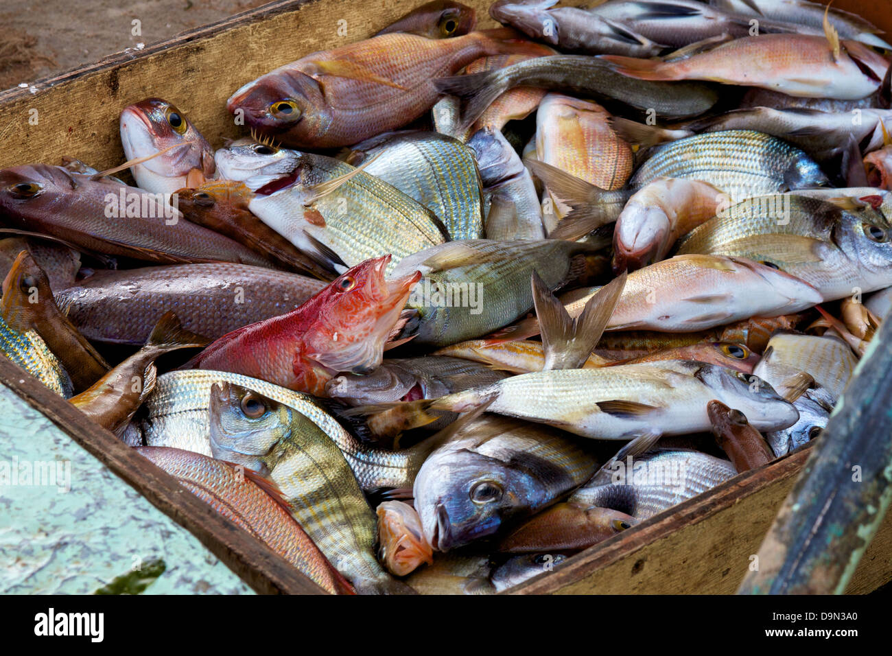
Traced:
<path id="1" fill-rule="evenodd" d="M 615 461 L 577 489 L 569 503 L 648 519 L 737 475 L 730 461 L 690 449 L 655 449 Z"/>

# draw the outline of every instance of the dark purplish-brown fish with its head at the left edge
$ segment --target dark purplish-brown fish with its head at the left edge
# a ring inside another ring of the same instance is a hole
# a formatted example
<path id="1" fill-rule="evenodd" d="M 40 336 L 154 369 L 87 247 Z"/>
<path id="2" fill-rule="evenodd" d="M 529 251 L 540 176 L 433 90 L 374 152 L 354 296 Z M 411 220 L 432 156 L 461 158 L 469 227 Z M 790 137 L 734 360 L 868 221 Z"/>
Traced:
<path id="1" fill-rule="evenodd" d="M 232 239 L 180 220 L 163 198 L 59 166 L 0 170 L 0 211 L 14 228 L 58 237 L 83 251 L 161 264 L 269 265 Z"/>

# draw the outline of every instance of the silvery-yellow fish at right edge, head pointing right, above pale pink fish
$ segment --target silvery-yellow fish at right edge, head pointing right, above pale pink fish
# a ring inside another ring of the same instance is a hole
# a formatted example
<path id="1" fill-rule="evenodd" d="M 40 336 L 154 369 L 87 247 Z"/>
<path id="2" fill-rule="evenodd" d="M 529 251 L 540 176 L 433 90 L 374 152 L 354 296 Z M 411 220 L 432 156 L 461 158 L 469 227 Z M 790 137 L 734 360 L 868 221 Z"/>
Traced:
<path id="1" fill-rule="evenodd" d="M 682 237 L 675 253 L 762 262 L 814 286 L 824 301 L 892 284 L 886 221 L 821 198 L 766 195 L 733 204 Z"/>

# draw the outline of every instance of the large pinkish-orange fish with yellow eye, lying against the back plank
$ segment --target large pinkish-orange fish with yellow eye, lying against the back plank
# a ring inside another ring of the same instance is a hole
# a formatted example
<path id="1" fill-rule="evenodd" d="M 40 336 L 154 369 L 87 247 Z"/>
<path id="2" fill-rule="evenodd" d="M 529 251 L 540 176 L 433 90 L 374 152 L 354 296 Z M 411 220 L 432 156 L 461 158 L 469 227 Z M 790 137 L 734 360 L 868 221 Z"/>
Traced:
<path id="1" fill-rule="evenodd" d="M 235 91 L 227 109 L 285 145 L 355 144 L 427 112 L 439 97 L 434 79 L 485 55 L 541 52 L 527 44 L 508 29 L 445 39 L 384 34 L 285 64 Z"/>

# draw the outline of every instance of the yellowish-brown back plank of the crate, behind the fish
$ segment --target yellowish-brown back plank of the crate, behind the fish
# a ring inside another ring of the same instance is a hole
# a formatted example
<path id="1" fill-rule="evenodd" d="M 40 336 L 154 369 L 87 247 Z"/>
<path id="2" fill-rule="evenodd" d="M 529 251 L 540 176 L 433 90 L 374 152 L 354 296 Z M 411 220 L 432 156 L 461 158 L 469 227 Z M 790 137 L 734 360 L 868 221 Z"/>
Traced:
<path id="1" fill-rule="evenodd" d="M 578 0 L 582 2 L 582 0 Z M 305 54 L 374 34 L 415 0 L 280 0 L 194 29 L 139 52 L 113 54 L 0 93 L 0 168 L 60 163 L 69 155 L 99 169 L 123 162 L 118 120 L 128 104 L 157 96 L 176 104 L 211 142 L 244 135 L 226 110 L 235 89 Z M 467 0 L 480 27 L 496 25 L 488 0 Z M 37 125 L 29 124 L 32 110 Z"/>

